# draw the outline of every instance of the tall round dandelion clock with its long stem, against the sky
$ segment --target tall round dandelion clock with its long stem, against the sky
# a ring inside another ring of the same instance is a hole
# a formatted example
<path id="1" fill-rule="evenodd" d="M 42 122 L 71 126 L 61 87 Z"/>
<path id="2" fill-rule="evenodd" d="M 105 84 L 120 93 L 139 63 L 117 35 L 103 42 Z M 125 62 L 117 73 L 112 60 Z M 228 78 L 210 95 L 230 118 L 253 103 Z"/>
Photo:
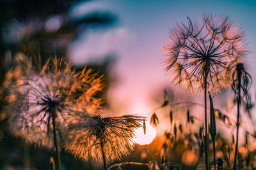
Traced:
<path id="1" fill-rule="evenodd" d="M 204 15 L 202 24 L 188 18 L 170 31 L 163 49 L 166 71 L 189 92 L 204 91 L 205 166 L 209 169 L 207 90 L 219 92 L 232 83 L 230 73 L 248 53 L 243 31 L 228 17 Z"/>

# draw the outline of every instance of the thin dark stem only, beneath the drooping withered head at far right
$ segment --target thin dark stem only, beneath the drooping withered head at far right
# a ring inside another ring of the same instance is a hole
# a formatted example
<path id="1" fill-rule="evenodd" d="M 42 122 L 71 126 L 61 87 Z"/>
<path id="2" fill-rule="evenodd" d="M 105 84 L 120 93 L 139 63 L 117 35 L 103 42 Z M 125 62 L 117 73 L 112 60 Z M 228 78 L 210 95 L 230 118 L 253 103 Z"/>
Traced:
<path id="1" fill-rule="evenodd" d="M 241 69 L 237 70 L 237 78 L 238 78 L 238 96 L 237 96 L 237 122 L 236 122 L 236 150 L 234 156 L 234 167 L 236 170 L 236 160 L 237 160 L 237 149 L 238 149 L 238 134 L 239 134 L 239 116 L 240 116 L 240 101 L 241 101 Z"/>

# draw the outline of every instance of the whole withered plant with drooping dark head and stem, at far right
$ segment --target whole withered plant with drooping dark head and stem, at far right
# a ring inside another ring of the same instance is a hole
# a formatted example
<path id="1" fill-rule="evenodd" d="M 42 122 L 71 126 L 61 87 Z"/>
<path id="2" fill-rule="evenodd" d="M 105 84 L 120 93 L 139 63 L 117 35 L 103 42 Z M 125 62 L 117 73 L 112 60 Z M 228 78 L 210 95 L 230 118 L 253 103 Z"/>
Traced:
<path id="1" fill-rule="evenodd" d="M 250 88 L 250 84 L 252 83 L 252 78 L 250 74 L 248 74 L 242 63 L 237 64 L 236 71 L 233 73 L 232 90 L 236 95 L 237 100 L 237 122 L 236 122 L 236 150 L 234 154 L 234 166 L 233 169 L 236 169 L 236 160 L 237 160 L 237 150 L 238 150 L 238 136 L 239 136 L 239 117 L 240 117 L 240 105 L 245 97 L 246 103 L 250 103 L 250 96 L 248 95 L 248 89 Z M 241 96 L 241 90 L 243 92 L 243 96 Z"/>

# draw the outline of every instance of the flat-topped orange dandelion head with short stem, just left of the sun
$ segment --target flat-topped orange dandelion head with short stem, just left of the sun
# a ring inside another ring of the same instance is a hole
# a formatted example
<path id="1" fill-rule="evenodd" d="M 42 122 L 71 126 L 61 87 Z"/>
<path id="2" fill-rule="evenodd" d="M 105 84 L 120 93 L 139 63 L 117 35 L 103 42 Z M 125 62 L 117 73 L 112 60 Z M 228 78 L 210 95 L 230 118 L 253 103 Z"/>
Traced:
<path id="1" fill-rule="evenodd" d="M 88 160 L 120 160 L 132 149 L 134 130 L 141 127 L 144 117 L 124 115 L 105 117 L 77 114 L 69 125 L 66 150 L 75 157 Z"/>

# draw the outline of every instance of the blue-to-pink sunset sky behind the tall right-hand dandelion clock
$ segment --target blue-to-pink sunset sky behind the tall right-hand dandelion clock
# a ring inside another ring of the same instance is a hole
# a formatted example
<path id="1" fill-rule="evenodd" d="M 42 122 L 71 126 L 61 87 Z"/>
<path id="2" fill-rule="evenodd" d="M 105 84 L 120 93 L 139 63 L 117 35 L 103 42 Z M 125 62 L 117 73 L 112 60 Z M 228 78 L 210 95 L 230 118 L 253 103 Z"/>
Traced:
<path id="1" fill-rule="evenodd" d="M 152 93 L 172 85 L 164 73 L 161 46 L 169 29 L 177 22 L 187 22 L 187 17 L 200 22 L 204 13 L 228 15 L 241 26 L 251 51 L 246 58 L 248 70 L 255 79 L 256 1 L 89 1 L 72 9 L 76 16 L 100 9 L 118 18 L 114 27 L 86 31 L 73 43 L 70 53 L 74 64 L 102 60 L 115 53 L 117 81 L 109 95 L 114 102 L 126 105 L 128 113 L 150 113 Z"/>

